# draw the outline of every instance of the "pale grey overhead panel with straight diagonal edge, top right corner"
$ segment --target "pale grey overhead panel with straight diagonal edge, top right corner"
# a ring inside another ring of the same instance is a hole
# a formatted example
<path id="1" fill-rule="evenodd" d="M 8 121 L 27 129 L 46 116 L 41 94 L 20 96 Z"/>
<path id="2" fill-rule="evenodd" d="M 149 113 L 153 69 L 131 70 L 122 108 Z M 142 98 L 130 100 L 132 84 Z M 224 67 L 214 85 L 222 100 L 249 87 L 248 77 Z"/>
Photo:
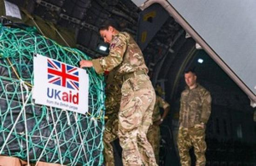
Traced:
<path id="1" fill-rule="evenodd" d="M 142 10 L 159 3 L 256 103 L 255 1 L 133 0 Z M 242 32 L 242 33 L 240 33 Z M 220 80 L 222 81 L 222 80 Z"/>

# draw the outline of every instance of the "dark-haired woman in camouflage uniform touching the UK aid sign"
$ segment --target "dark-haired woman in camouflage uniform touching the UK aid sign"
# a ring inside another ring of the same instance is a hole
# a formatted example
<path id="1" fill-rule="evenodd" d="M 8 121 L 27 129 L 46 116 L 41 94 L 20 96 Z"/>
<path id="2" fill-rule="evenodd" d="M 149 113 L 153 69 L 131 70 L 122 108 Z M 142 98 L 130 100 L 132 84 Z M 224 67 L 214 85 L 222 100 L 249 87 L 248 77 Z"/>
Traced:
<path id="1" fill-rule="evenodd" d="M 147 139 L 152 124 L 155 91 L 147 75 L 141 49 L 132 36 L 119 32 L 115 22 L 106 21 L 100 28 L 104 42 L 110 43 L 109 54 L 96 60 L 81 60 L 81 67 L 94 67 L 97 73 L 118 66 L 122 76 L 121 105 L 118 113 L 118 137 L 124 166 L 157 166 Z"/>

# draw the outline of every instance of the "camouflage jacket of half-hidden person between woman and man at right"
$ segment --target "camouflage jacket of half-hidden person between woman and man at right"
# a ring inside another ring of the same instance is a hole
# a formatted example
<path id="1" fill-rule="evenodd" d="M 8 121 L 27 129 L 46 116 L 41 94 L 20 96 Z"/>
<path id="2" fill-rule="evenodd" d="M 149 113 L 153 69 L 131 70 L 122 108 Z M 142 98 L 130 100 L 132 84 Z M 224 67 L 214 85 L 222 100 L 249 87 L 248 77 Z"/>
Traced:
<path id="1" fill-rule="evenodd" d="M 152 114 L 152 121 L 155 122 L 157 120 L 161 119 L 161 114 L 160 114 L 160 109 L 159 108 L 167 108 L 170 106 L 165 100 L 163 100 L 160 96 L 156 95 L 155 98 L 155 106 L 154 106 L 154 111 Z"/>

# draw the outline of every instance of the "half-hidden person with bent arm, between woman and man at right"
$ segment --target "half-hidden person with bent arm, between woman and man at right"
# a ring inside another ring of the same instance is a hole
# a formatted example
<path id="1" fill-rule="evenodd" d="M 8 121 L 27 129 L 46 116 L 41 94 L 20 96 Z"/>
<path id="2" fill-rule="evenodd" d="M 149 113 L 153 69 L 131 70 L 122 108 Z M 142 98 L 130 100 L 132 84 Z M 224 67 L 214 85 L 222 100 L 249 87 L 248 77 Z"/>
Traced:
<path id="1" fill-rule="evenodd" d="M 162 117 L 161 117 L 159 108 L 163 108 L 164 110 Z M 160 149 L 160 140 L 161 140 L 159 125 L 162 124 L 162 121 L 167 116 L 169 112 L 169 108 L 170 108 L 170 105 L 165 100 L 163 100 L 160 96 L 156 95 L 155 106 L 154 106 L 154 111 L 152 115 L 153 125 L 150 125 L 148 128 L 147 138 L 148 138 L 148 142 L 151 144 L 154 150 L 155 160 L 157 164 L 159 164 L 159 149 Z"/>

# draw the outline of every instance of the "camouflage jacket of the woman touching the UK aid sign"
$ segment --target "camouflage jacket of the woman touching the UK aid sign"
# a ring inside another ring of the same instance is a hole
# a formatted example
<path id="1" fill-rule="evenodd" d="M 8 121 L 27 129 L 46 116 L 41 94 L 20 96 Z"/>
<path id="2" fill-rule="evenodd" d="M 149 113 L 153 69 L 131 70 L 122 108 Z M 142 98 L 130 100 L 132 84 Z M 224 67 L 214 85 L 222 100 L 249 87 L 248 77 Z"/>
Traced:
<path id="1" fill-rule="evenodd" d="M 118 69 L 120 75 L 140 70 L 148 73 L 140 47 L 126 32 L 113 36 L 108 56 L 93 60 L 93 66 L 97 73 L 111 71 L 116 66 L 120 66 Z"/>

